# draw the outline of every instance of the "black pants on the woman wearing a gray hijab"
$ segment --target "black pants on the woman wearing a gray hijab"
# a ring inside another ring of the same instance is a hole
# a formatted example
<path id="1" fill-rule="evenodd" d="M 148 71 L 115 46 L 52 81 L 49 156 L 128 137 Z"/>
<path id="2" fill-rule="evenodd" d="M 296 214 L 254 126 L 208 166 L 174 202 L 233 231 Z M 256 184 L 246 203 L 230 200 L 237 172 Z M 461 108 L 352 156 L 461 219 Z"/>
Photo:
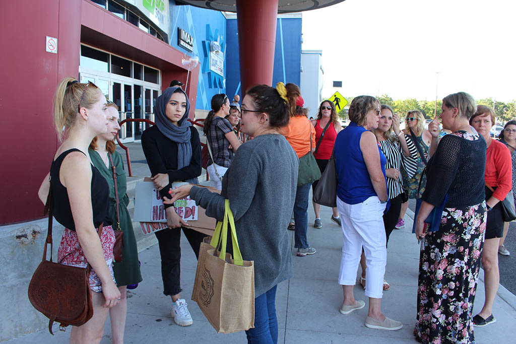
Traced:
<path id="1" fill-rule="evenodd" d="M 205 234 L 194 231 L 187 227 L 165 228 L 155 233 L 159 244 L 159 254 L 162 258 L 162 278 L 163 293 L 165 295 L 175 295 L 181 292 L 181 230 L 186 235 L 186 239 L 199 258 L 199 248 L 201 242 L 206 237 Z"/>

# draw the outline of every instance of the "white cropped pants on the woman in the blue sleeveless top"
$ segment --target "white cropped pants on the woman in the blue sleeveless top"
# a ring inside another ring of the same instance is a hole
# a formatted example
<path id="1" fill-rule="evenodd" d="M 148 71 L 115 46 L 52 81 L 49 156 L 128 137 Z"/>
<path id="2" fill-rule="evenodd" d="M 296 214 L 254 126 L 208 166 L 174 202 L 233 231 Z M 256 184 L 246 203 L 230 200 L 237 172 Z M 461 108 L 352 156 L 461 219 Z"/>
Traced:
<path id="1" fill-rule="evenodd" d="M 375 299 L 382 297 L 383 275 L 387 263 L 383 226 L 384 209 L 385 204 L 381 204 L 377 196 L 369 197 L 359 204 L 347 204 L 337 196 L 337 210 L 341 216 L 344 237 L 338 283 L 356 284 L 363 247 L 367 265 L 365 295 Z"/>

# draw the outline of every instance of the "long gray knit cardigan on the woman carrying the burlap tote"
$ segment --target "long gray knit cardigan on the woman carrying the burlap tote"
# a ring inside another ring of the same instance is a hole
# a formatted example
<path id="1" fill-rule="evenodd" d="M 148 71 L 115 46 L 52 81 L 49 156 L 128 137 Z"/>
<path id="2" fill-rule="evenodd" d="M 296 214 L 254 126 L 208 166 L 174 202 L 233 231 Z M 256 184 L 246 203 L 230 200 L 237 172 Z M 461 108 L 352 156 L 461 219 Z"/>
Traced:
<path id="1" fill-rule="evenodd" d="M 222 178 L 220 195 L 197 186 L 190 191 L 206 215 L 218 221 L 229 199 L 242 256 L 254 260 L 255 297 L 293 276 L 286 227 L 296 198 L 298 166 L 296 153 L 282 135 L 260 135 L 238 148 Z"/>

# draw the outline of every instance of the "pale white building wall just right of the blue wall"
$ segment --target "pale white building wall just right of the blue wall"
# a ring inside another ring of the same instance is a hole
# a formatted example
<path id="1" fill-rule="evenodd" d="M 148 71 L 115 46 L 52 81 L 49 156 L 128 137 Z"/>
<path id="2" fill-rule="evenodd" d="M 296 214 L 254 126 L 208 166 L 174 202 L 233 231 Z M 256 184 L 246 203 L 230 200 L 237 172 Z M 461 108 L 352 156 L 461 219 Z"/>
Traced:
<path id="1" fill-rule="evenodd" d="M 304 107 L 309 109 L 308 117 L 316 118 L 321 102 L 322 51 L 302 51 L 301 53 L 301 95 Z"/>

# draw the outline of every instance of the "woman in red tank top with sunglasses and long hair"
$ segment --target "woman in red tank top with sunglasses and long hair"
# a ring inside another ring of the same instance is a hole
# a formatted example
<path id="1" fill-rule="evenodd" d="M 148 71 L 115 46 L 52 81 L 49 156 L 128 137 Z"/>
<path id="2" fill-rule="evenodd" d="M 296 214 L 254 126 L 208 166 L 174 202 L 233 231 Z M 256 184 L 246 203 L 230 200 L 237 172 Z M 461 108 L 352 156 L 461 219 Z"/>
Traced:
<path id="1" fill-rule="evenodd" d="M 316 148 L 314 156 L 315 160 L 317 161 L 317 165 L 319 166 L 319 170 L 322 173 L 324 172 L 326 165 L 328 165 L 328 160 L 330 160 L 331 153 L 333 152 L 333 146 L 335 145 L 335 139 L 337 138 L 337 134 L 342 129 L 341 123 L 337 121 L 337 111 L 335 110 L 335 104 L 328 100 L 322 102 L 321 105 L 319 105 L 317 119 L 312 120 L 311 122 L 312 125 L 315 127 L 315 142 L 317 142 L 318 144 L 318 148 Z M 328 128 L 326 129 L 326 132 L 323 135 L 322 132 L 324 132 L 327 125 Z M 321 136 L 322 140 L 320 140 Z M 312 184 L 312 191 L 315 190 L 317 182 L 318 181 L 315 181 Z M 314 204 L 315 212 L 314 228 L 321 228 L 321 206 L 313 201 L 312 203 Z M 340 227 L 341 219 L 338 217 L 337 208 L 335 207 L 331 209 L 333 210 L 331 220 L 334 221 Z"/>

